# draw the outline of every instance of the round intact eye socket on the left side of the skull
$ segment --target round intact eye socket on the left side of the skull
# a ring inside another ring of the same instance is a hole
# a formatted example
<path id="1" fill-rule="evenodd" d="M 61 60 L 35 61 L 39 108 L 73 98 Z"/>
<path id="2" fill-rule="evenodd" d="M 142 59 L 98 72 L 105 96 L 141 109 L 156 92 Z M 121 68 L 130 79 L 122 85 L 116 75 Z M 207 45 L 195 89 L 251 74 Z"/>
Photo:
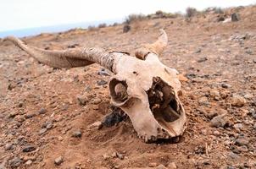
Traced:
<path id="1" fill-rule="evenodd" d="M 109 90 L 112 99 L 117 103 L 123 103 L 128 99 L 127 87 L 125 81 L 112 79 L 109 83 Z"/>

